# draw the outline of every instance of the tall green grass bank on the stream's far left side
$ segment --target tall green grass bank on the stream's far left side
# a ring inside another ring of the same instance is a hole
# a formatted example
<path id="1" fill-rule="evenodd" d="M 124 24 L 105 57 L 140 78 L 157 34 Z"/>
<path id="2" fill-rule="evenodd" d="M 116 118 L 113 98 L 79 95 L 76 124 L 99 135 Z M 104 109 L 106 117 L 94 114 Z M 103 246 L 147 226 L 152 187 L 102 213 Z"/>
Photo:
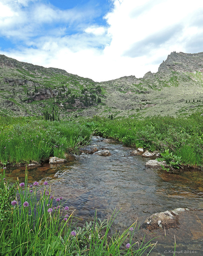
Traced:
<path id="1" fill-rule="evenodd" d="M 91 129 L 74 122 L 35 118 L 0 118 L 0 162 L 46 161 L 49 156 L 64 158 L 87 144 Z"/>

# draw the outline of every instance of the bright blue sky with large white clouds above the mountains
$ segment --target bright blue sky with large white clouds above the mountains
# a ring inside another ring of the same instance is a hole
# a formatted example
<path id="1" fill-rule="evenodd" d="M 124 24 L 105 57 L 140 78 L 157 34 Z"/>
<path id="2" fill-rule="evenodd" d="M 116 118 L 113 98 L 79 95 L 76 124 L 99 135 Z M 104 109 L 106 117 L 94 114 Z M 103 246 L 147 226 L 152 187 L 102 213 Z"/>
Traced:
<path id="1" fill-rule="evenodd" d="M 0 54 L 94 81 L 203 51 L 202 0 L 0 0 Z"/>

